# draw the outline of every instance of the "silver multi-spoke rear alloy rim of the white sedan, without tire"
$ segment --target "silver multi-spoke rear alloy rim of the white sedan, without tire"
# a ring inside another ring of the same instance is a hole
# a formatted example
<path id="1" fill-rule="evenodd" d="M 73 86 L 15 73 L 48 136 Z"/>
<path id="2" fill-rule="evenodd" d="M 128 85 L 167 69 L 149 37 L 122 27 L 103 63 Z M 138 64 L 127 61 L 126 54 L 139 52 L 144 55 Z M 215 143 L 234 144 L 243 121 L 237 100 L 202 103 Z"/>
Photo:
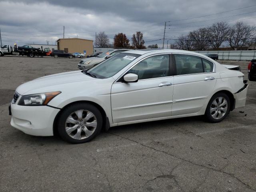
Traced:
<path id="1" fill-rule="evenodd" d="M 228 110 L 228 102 L 224 97 L 217 97 L 213 100 L 210 106 L 210 113 L 212 118 L 222 118 Z"/>

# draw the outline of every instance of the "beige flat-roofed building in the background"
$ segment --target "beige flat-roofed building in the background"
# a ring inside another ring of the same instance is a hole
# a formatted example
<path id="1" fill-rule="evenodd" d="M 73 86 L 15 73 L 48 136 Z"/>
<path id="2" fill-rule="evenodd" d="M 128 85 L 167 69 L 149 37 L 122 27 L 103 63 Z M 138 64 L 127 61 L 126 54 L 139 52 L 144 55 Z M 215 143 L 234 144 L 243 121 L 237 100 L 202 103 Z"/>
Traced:
<path id="1" fill-rule="evenodd" d="M 86 51 L 86 55 L 93 54 L 93 40 L 80 38 L 58 39 L 57 47 L 58 50 L 65 50 L 70 53 L 84 53 Z"/>

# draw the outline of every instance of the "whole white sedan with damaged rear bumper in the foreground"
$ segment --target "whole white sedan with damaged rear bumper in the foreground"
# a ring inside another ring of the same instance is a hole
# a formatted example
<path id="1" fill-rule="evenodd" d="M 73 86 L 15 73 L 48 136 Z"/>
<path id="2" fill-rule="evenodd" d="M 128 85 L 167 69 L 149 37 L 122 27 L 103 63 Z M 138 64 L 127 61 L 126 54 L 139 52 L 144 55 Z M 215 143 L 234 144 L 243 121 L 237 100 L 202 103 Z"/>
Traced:
<path id="1" fill-rule="evenodd" d="M 220 122 L 245 106 L 243 76 L 196 52 L 129 50 L 89 70 L 20 85 L 9 108 L 11 125 L 82 143 L 125 124 L 199 115 Z"/>

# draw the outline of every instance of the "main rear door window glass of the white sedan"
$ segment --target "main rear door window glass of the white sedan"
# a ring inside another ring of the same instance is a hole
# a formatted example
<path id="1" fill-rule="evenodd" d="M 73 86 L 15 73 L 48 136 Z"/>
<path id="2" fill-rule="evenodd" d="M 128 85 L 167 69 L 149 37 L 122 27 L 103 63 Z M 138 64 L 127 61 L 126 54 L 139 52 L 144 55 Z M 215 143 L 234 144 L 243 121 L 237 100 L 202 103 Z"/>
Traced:
<path id="1" fill-rule="evenodd" d="M 176 74 L 186 75 L 203 73 L 204 68 L 200 57 L 192 55 L 175 54 Z"/>

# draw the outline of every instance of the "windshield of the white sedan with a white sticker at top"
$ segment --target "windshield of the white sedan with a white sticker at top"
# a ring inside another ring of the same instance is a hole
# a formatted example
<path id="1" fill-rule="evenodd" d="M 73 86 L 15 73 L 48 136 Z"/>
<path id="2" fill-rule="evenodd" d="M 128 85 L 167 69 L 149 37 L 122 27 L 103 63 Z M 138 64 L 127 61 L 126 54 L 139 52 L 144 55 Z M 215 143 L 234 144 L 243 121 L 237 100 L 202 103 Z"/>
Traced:
<path id="1" fill-rule="evenodd" d="M 94 66 L 87 72 L 100 79 L 110 78 L 139 56 L 138 54 L 120 53 Z"/>

